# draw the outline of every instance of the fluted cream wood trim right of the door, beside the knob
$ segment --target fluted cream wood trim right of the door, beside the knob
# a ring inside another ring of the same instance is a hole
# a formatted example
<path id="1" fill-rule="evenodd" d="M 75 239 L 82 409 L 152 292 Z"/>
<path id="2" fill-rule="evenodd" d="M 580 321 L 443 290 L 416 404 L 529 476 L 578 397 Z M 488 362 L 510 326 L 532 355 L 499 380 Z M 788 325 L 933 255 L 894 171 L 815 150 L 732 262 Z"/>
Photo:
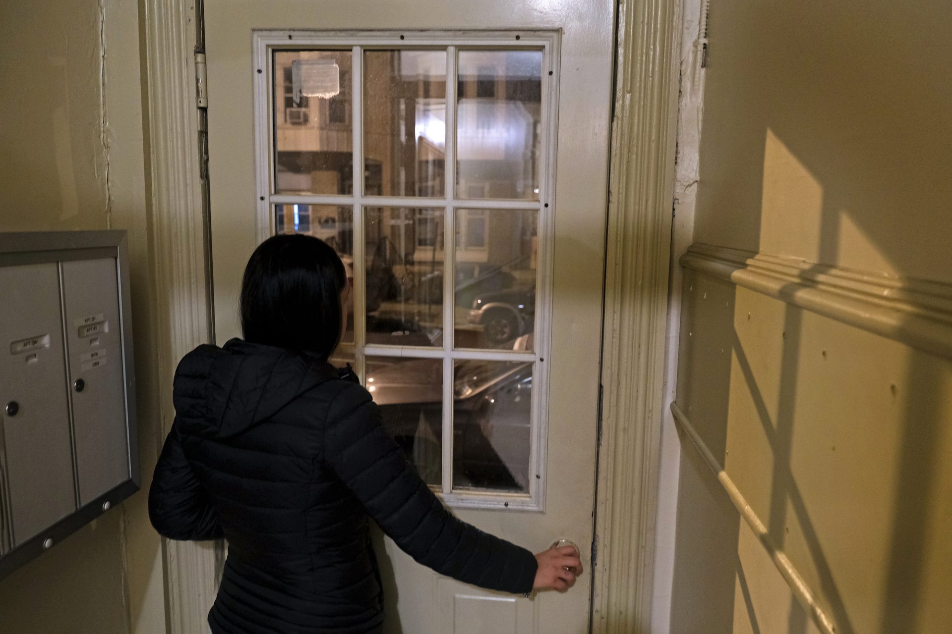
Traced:
<path id="1" fill-rule="evenodd" d="M 619 4 L 592 632 L 651 623 L 681 2 Z"/>

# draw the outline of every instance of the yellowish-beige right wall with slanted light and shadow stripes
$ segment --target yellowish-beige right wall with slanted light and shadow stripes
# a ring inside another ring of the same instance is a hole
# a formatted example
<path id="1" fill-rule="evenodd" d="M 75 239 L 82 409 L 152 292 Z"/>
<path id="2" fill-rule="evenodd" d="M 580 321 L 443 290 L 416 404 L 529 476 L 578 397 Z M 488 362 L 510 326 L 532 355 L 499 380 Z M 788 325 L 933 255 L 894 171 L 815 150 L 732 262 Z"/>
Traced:
<path id="1" fill-rule="evenodd" d="M 952 283 L 950 29 L 714 0 L 694 240 Z M 947 630 L 952 361 L 695 271 L 683 301 L 677 401 L 837 631 Z M 813 632 L 682 444 L 670 631 Z"/>

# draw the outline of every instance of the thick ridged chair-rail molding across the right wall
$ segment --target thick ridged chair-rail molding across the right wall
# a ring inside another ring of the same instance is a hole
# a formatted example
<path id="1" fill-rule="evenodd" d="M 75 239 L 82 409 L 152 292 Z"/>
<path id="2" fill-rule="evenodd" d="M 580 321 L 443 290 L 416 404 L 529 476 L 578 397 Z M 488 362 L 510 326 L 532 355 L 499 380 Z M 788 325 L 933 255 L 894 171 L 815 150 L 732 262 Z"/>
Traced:
<path id="1" fill-rule="evenodd" d="M 693 244 L 685 268 L 952 358 L 952 284 Z"/>

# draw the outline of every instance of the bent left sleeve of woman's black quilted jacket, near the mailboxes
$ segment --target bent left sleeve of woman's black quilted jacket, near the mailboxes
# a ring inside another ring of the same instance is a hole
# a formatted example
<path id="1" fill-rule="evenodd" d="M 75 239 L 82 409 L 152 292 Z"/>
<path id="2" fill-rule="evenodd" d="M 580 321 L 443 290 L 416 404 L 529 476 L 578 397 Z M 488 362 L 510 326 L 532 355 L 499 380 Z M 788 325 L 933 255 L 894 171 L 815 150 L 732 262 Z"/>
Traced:
<path id="1" fill-rule="evenodd" d="M 149 489 L 149 520 L 169 539 L 208 540 L 223 536 L 215 510 L 182 451 L 178 421 L 162 448 Z"/>

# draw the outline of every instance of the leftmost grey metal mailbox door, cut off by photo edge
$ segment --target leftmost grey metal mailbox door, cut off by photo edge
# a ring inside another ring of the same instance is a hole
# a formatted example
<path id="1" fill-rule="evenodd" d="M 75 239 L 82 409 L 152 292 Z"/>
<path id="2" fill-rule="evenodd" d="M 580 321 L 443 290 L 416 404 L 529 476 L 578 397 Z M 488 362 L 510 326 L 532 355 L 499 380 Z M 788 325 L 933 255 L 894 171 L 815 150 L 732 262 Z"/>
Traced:
<path id="1" fill-rule="evenodd" d="M 0 267 L 0 407 L 13 546 L 76 509 L 55 263 Z"/>

